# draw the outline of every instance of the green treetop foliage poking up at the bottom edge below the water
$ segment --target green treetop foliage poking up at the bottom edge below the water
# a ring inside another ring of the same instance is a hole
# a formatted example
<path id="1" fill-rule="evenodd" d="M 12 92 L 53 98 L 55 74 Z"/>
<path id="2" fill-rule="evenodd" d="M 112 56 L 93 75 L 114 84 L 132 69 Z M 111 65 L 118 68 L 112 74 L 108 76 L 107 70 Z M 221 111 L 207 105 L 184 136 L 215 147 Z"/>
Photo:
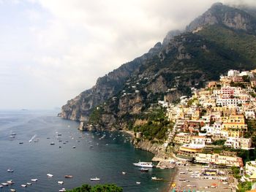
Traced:
<path id="1" fill-rule="evenodd" d="M 113 184 L 94 185 L 94 186 L 84 184 L 81 187 L 74 188 L 67 192 L 122 192 L 122 191 L 123 191 L 122 188 L 119 188 L 118 186 Z"/>

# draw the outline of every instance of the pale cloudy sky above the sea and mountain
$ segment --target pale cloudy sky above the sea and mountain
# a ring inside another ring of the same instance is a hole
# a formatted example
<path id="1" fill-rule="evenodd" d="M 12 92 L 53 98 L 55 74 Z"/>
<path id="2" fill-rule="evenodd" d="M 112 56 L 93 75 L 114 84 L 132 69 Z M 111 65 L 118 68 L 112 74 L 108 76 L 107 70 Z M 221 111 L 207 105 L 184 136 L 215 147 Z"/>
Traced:
<path id="1" fill-rule="evenodd" d="M 0 110 L 61 107 L 214 2 L 0 0 Z"/>

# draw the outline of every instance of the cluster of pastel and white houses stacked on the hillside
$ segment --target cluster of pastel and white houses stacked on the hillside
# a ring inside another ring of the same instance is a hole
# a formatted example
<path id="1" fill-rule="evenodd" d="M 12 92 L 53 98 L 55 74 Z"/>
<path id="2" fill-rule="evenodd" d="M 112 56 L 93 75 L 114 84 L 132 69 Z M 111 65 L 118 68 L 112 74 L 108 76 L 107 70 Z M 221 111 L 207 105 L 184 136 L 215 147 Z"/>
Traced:
<path id="1" fill-rule="evenodd" d="M 206 88 L 192 88 L 192 97 L 182 96 L 179 104 L 159 101 L 167 107 L 169 120 L 175 123 L 169 138 L 176 145 L 176 156 L 204 164 L 244 166 L 236 153 L 214 153 L 214 148 L 254 147 L 246 135 L 246 120 L 255 119 L 255 88 L 256 70 L 230 70 L 219 81 L 208 82 Z"/>

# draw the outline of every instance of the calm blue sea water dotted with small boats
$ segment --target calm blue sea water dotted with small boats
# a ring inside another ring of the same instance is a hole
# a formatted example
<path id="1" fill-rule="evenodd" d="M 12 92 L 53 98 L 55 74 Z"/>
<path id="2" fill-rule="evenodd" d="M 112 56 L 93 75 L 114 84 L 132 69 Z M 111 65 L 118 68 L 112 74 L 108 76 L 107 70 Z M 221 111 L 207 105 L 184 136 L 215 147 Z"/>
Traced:
<path id="1" fill-rule="evenodd" d="M 116 183 L 124 191 L 167 190 L 167 183 L 151 181 L 151 177 L 170 180 L 172 171 L 151 169 L 150 172 L 140 172 L 132 163 L 151 161 L 153 155 L 135 149 L 128 141 L 128 134 L 118 131 L 82 132 L 78 130 L 78 122 L 62 120 L 56 114 L 56 111 L 0 111 L 0 183 L 15 182 L 1 188 L 0 192 L 11 188 L 17 191 L 59 191 L 83 183 Z M 11 133 L 16 134 L 14 139 L 10 138 Z M 99 139 L 103 134 L 105 138 Z M 29 142 L 34 135 L 35 139 Z M 51 142 L 55 145 L 50 145 Z M 93 146 L 91 149 L 90 145 Z M 7 169 L 14 172 L 7 172 Z M 53 177 L 48 178 L 48 173 Z M 64 178 L 65 174 L 72 174 L 73 178 Z M 99 177 L 100 181 L 91 182 L 92 177 Z M 34 178 L 38 179 L 37 183 L 31 182 Z M 64 181 L 64 184 L 59 185 L 58 181 Z M 20 187 L 28 182 L 32 185 Z"/>

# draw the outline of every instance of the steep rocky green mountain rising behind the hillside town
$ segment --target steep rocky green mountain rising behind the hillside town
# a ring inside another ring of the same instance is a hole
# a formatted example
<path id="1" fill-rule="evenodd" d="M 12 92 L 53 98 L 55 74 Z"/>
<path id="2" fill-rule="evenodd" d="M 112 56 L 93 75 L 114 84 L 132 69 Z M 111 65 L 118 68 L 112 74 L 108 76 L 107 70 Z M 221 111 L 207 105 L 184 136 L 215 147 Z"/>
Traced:
<path id="1" fill-rule="evenodd" d="M 160 99 L 190 95 L 228 69 L 255 69 L 255 13 L 213 4 L 185 31 L 169 31 L 148 53 L 99 77 L 59 115 L 93 128 L 131 128 Z"/>

